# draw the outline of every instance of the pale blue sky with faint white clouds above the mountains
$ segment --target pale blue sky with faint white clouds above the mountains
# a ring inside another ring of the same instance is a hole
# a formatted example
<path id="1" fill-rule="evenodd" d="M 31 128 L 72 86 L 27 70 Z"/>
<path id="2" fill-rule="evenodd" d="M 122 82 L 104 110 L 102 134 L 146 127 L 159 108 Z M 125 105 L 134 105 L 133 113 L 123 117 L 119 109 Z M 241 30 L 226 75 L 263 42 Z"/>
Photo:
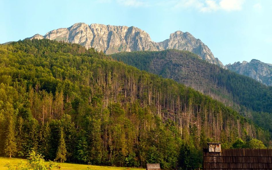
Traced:
<path id="1" fill-rule="evenodd" d="M 44 35 L 77 22 L 135 26 L 155 42 L 190 32 L 224 65 L 272 63 L 271 0 L 0 0 L 0 43 Z"/>

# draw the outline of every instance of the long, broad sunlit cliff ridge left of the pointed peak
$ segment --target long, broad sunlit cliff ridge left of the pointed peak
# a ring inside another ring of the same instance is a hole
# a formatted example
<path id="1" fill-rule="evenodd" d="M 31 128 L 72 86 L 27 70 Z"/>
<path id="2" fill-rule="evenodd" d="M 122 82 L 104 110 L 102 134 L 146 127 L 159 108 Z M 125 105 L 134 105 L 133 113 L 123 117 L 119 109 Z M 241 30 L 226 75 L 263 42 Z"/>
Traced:
<path id="1" fill-rule="evenodd" d="M 39 34 L 30 39 L 42 37 Z M 77 43 L 86 48 L 95 48 L 106 54 L 121 51 L 158 51 L 163 50 L 158 43 L 153 42 L 145 31 L 136 27 L 110 26 L 103 24 L 77 23 L 69 28 L 59 28 L 50 31 L 43 36 L 50 40 L 63 40 L 65 42 Z"/>

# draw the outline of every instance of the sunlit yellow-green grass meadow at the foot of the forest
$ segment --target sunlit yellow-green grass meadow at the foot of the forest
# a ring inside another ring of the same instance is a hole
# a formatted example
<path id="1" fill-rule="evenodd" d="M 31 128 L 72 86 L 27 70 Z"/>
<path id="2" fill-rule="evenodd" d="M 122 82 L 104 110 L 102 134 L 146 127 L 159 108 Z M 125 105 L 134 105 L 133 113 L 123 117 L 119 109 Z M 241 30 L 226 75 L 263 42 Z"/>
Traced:
<path id="1" fill-rule="evenodd" d="M 7 170 L 7 167 L 4 167 L 7 163 L 11 165 L 17 165 L 22 159 L 16 158 L 3 158 L 0 157 L 0 170 Z M 26 162 L 26 160 L 23 159 Z M 61 170 L 82 170 L 87 169 L 88 165 L 73 164 L 73 163 L 58 163 L 61 167 Z M 56 168 L 57 170 L 58 168 Z M 96 166 L 91 165 L 90 170 L 144 170 L 141 168 L 130 168 L 130 167 L 109 167 L 109 166 Z"/>

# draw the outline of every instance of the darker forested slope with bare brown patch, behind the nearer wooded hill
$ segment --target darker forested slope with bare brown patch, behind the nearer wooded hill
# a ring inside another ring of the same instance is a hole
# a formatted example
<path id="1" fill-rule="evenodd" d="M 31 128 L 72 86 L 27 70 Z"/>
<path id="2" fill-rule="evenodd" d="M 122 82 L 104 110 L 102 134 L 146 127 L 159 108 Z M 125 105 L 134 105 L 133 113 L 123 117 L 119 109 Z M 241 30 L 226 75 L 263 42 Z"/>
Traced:
<path id="1" fill-rule="evenodd" d="M 272 132 L 272 87 L 210 64 L 188 51 L 121 52 L 112 58 L 174 79 L 231 106 Z"/>

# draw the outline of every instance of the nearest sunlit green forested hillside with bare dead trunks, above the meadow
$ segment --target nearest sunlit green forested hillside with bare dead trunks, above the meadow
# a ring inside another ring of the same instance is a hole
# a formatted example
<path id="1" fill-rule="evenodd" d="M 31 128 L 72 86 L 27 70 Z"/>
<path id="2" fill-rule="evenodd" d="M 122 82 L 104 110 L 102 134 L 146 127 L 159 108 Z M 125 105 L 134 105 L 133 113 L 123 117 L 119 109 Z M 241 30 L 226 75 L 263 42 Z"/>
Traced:
<path id="1" fill-rule="evenodd" d="M 1 156 L 35 150 L 60 162 L 194 169 L 208 141 L 254 148 L 270 140 L 207 95 L 77 44 L 1 45 L 0 91 Z"/>

